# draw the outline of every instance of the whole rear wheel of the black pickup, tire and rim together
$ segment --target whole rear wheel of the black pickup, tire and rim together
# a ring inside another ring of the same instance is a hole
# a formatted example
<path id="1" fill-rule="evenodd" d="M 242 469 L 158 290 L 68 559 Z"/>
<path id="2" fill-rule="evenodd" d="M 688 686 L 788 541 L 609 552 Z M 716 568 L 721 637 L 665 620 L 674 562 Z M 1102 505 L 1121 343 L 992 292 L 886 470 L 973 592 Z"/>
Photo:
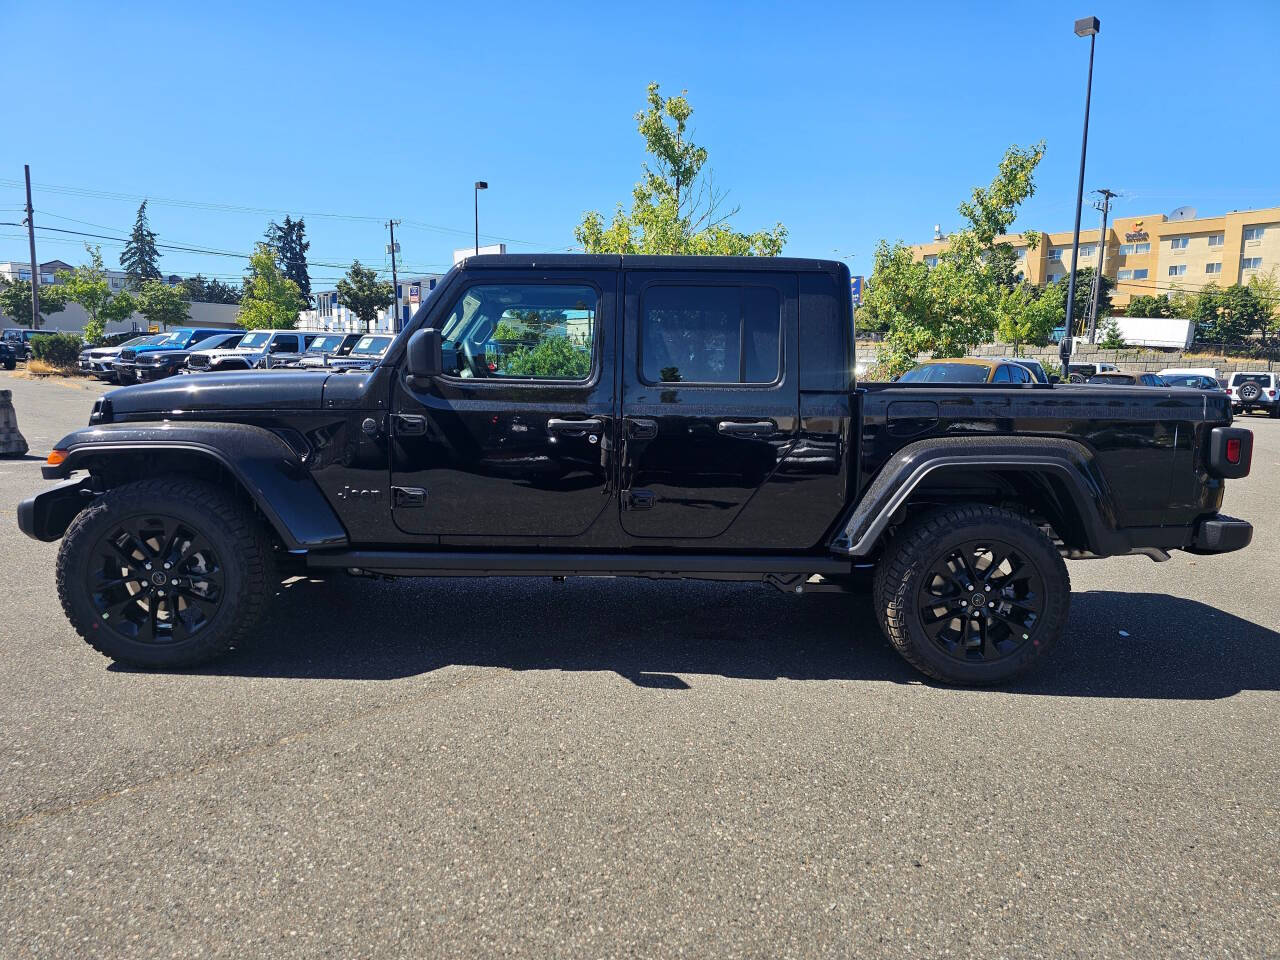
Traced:
<path id="1" fill-rule="evenodd" d="M 1066 627 L 1071 582 L 1047 536 L 1012 511 L 940 508 L 901 530 L 876 571 L 890 643 L 950 684 L 998 684 L 1042 658 Z"/>

